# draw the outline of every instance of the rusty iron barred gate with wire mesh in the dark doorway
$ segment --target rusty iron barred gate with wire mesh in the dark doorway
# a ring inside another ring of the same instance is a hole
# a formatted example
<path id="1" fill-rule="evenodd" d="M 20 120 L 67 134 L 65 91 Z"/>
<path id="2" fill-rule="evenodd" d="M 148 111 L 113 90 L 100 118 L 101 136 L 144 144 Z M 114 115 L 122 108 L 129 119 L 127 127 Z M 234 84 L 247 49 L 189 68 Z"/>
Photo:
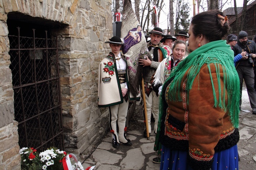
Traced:
<path id="1" fill-rule="evenodd" d="M 9 35 L 15 120 L 19 146 L 64 150 L 57 36 L 50 39 Z"/>

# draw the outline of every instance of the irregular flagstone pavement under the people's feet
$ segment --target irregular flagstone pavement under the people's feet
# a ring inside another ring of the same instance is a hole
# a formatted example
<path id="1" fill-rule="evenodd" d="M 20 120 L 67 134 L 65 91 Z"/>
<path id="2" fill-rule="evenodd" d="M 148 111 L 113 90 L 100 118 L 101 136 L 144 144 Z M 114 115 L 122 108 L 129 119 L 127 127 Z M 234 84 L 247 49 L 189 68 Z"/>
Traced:
<path id="1" fill-rule="evenodd" d="M 240 117 L 240 170 L 256 170 L 256 115 L 252 114 L 246 89 L 243 89 Z M 153 127 L 153 122 L 151 122 Z M 110 133 L 83 162 L 83 167 L 94 166 L 93 170 L 159 170 L 160 164 L 154 164 L 152 159 L 157 156 L 153 150 L 155 135 L 151 133 L 149 140 L 143 138 L 142 106 L 137 102 L 136 111 L 129 122 L 128 138 L 133 146 L 120 144 L 119 149 L 112 147 Z"/>

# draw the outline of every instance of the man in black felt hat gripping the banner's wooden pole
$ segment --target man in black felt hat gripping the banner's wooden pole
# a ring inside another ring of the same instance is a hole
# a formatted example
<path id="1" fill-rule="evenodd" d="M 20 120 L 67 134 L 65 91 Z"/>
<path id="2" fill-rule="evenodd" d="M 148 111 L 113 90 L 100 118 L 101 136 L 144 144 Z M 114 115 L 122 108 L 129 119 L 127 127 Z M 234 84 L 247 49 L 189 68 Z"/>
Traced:
<path id="1" fill-rule="evenodd" d="M 155 27 L 151 32 L 150 35 L 150 42 L 147 43 L 147 47 L 149 50 L 149 56 L 152 58 L 144 58 L 139 59 L 139 65 L 143 67 L 143 79 L 144 79 L 144 89 L 146 93 L 146 107 L 147 107 L 147 123 L 149 128 L 149 136 L 151 133 L 151 114 L 152 110 L 154 109 L 154 132 L 157 131 L 157 122 L 158 122 L 158 113 L 159 113 L 159 95 L 156 94 L 155 91 L 152 90 L 152 85 L 150 83 L 152 75 L 155 73 L 157 67 L 159 66 L 160 62 L 170 55 L 170 48 L 166 45 L 160 43 L 160 40 L 163 35 L 163 30 L 159 27 Z M 142 87 L 141 87 L 142 88 Z M 142 90 L 141 90 L 142 91 Z M 144 107 L 143 107 L 144 111 Z M 144 119 L 145 120 L 145 119 Z M 143 133 L 144 138 L 147 138 L 146 129 Z"/>

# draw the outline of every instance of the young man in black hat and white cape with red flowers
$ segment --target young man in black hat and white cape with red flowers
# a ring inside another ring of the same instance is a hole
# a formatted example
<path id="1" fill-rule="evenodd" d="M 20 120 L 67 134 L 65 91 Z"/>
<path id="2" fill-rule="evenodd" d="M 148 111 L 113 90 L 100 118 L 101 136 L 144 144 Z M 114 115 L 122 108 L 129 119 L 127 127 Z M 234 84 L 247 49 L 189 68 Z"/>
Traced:
<path id="1" fill-rule="evenodd" d="M 131 146 L 126 138 L 126 115 L 130 100 L 127 63 L 120 52 L 123 45 L 121 38 L 114 36 L 109 41 L 111 52 L 99 64 L 98 107 L 109 107 L 109 126 L 112 135 L 112 146 L 119 148 L 119 143 Z M 117 134 L 117 123 L 119 134 Z"/>

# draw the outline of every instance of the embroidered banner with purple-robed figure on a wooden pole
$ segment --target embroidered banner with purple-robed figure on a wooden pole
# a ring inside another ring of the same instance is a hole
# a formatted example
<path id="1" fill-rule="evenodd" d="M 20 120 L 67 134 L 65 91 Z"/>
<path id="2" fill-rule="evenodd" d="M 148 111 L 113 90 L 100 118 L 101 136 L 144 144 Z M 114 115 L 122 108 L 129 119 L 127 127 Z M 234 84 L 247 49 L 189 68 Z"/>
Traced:
<path id="1" fill-rule="evenodd" d="M 121 38 L 123 39 L 122 52 L 126 57 L 128 66 L 130 92 L 133 94 L 134 97 L 136 97 L 136 95 L 138 95 L 139 86 L 142 87 L 147 140 L 149 140 L 148 124 L 146 123 L 146 100 L 145 92 L 143 92 L 144 83 L 143 80 L 141 80 L 142 75 L 140 71 L 142 67 L 139 66 L 139 58 L 141 58 L 141 56 L 144 55 L 148 50 L 146 38 L 131 6 L 131 0 L 123 1 Z"/>

